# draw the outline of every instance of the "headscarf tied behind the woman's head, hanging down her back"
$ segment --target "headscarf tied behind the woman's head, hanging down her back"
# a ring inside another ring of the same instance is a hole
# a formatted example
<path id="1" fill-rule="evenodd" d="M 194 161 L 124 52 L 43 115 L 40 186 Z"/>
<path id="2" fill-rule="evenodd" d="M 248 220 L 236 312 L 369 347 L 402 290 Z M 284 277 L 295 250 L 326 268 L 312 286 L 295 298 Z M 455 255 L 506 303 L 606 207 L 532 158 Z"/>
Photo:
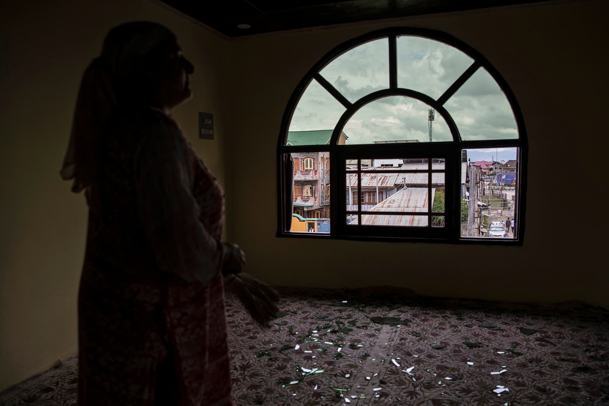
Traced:
<path id="1" fill-rule="evenodd" d="M 139 57 L 174 38 L 167 27 L 138 21 L 121 24 L 108 32 L 102 54 L 86 68 L 72 120 L 68 151 L 61 176 L 74 179 L 72 191 L 89 188 L 97 178 L 97 152 L 117 101 L 136 73 Z"/>

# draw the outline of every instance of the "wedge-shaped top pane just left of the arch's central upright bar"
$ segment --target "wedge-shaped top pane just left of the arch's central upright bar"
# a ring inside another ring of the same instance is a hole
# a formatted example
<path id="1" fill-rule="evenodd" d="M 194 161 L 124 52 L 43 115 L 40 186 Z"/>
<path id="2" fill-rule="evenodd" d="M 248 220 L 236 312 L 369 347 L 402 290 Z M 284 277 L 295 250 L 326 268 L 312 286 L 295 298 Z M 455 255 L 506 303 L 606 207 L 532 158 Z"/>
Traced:
<path id="1" fill-rule="evenodd" d="M 381 38 L 356 46 L 319 72 L 350 102 L 389 88 L 389 41 Z"/>

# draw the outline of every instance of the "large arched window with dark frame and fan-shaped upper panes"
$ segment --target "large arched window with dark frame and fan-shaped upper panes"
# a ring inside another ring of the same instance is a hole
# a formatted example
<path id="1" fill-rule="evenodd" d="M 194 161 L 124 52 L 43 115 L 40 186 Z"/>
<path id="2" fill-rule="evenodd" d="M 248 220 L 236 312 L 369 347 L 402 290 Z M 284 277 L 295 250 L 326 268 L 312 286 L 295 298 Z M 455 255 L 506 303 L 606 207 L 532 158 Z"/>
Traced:
<path id="1" fill-rule="evenodd" d="M 325 55 L 290 98 L 279 234 L 294 235 L 290 165 L 304 157 L 305 179 L 345 191 L 311 199 L 331 219 L 312 238 L 522 244 L 526 154 L 516 99 L 479 52 L 434 30 L 371 32 Z"/>

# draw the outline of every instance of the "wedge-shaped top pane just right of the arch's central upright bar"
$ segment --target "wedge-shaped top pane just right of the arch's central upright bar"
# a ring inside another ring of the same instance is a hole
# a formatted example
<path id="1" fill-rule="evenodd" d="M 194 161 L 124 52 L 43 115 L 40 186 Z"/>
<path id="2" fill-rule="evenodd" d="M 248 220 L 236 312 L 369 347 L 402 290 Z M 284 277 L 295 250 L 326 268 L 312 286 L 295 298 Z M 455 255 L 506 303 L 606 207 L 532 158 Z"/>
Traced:
<path id="1" fill-rule="evenodd" d="M 459 49 L 429 38 L 398 37 L 398 87 L 438 99 L 473 63 Z"/>

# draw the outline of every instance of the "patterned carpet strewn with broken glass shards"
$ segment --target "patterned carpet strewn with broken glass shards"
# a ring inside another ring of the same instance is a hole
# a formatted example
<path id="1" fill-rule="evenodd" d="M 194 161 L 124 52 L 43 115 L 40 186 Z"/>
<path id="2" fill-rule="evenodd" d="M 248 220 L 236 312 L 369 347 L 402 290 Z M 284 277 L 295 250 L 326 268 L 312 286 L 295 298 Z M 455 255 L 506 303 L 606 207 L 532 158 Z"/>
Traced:
<path id="1" fill-rule="evenodd" d="M 391 293 L 388 293 L 391 292 Z M 227 293 L 236 405 L 608 405 L 609 312 L 282 288 L 271 329 Z M 76 358 L 0 393 L 75 405 Z"/>

